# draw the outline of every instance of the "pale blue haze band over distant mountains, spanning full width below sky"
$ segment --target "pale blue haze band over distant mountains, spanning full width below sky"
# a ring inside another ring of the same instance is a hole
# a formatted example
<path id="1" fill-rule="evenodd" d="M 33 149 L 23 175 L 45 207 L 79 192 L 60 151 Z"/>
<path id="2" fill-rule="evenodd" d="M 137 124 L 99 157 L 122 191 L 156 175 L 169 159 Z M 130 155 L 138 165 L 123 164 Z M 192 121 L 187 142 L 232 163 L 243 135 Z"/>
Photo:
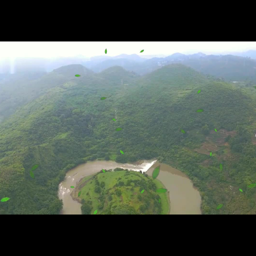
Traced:
<path id="1" fill-rule="evenodd" d="M 55 59 L 18 58 L 12 62 L 2 59 L 0 60 L 0 80 L 8 77 L 8 73 L 45 73 L 72 64 L 83 65 L 94 72 L 101 72 L 113 66 L 121 66 L 127 71 L 144 75 L 172 63 L 182 63 L 203 74 L 222 77 L 227 80 L 244 80 L 246 78 L 256 80 L 256 50 L 228 55 L 206 55 L 199 52 L 188 55 L 175 53 L 170 56 L 121 54 L 114 57 L 102 55 L 91 58 L 84 56 Z"/>

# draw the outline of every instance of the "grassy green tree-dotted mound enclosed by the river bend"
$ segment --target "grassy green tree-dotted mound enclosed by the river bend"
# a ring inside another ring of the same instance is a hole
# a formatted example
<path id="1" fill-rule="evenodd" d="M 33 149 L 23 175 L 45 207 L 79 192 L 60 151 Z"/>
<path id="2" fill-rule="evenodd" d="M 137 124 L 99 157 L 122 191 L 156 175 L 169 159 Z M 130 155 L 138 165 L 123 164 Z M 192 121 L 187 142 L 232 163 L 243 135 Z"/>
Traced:
<path id="1" fill-rule="evenodd" d="M 158 188 L 163 184 L 147 174 L 115 168 L 81 179 L 71 196 L 82 204 L 83 215 L 168 215 L 168 192 L 158 194 Z"/>

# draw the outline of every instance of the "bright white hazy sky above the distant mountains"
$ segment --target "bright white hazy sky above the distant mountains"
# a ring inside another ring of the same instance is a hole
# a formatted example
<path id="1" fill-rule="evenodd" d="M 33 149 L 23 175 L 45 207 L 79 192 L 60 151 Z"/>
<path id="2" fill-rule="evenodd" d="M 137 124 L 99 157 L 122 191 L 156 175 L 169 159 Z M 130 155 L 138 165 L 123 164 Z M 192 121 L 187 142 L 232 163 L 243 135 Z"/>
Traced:
<path id="1" fill-rule="evenodd" d="M 256 50 L 256 42 L 0 42 L 0 58 L 15 57 L 86 57 L 122 53 L 138 55 L 170 55 L 176 52 L 242 52 Z M 144 50 L 143 53 L 140 53 Z"/>

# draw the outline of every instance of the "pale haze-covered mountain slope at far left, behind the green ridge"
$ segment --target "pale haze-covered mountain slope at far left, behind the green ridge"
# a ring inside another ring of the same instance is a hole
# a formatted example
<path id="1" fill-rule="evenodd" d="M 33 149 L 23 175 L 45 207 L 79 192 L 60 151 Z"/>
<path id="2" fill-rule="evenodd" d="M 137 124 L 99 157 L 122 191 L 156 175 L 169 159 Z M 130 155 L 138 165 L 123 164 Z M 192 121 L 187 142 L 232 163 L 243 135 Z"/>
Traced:
<path id="1" fill-rule="evenodd" d="M 7 117 L 17 108 L 37 97 L 44 95 L 49 89 L 61 86 L 63 82 L 75 81 L 74 72 L 84 79 L 94 72 L 81 65 L 61 67 L 51 73 L 21 72 L 3 76 L 0 81 L 0 116 Z"/>

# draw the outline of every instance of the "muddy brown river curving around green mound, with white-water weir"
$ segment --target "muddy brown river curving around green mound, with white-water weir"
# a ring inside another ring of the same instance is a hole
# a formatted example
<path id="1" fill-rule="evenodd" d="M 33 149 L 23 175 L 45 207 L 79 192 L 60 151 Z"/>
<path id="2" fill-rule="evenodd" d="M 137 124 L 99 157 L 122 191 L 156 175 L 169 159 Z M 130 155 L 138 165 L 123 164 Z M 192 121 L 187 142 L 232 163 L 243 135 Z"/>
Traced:
<path id="1" fill-rule="evenodd" d="M 142 163 L 141 163 L 142 162 Z M 116 163 L 114 161 L 90 161 L 81 164 L 66 174 L 65 180 L 59 184 L 59 199 L 63 200 L 62 215 L 81 215 L 81 204 L 74 201 L 70 186 L 76 186 L 81 178 L 99 172 L 101 169 L 132 169 L 152 175 L 155 167 L 160 165 L 157 177 L 169 191 L 170 215 L 200 215 L 201 197 L 193 183 L 180 170 L 157 160 L 144 160 L 136 163 Z"/>

